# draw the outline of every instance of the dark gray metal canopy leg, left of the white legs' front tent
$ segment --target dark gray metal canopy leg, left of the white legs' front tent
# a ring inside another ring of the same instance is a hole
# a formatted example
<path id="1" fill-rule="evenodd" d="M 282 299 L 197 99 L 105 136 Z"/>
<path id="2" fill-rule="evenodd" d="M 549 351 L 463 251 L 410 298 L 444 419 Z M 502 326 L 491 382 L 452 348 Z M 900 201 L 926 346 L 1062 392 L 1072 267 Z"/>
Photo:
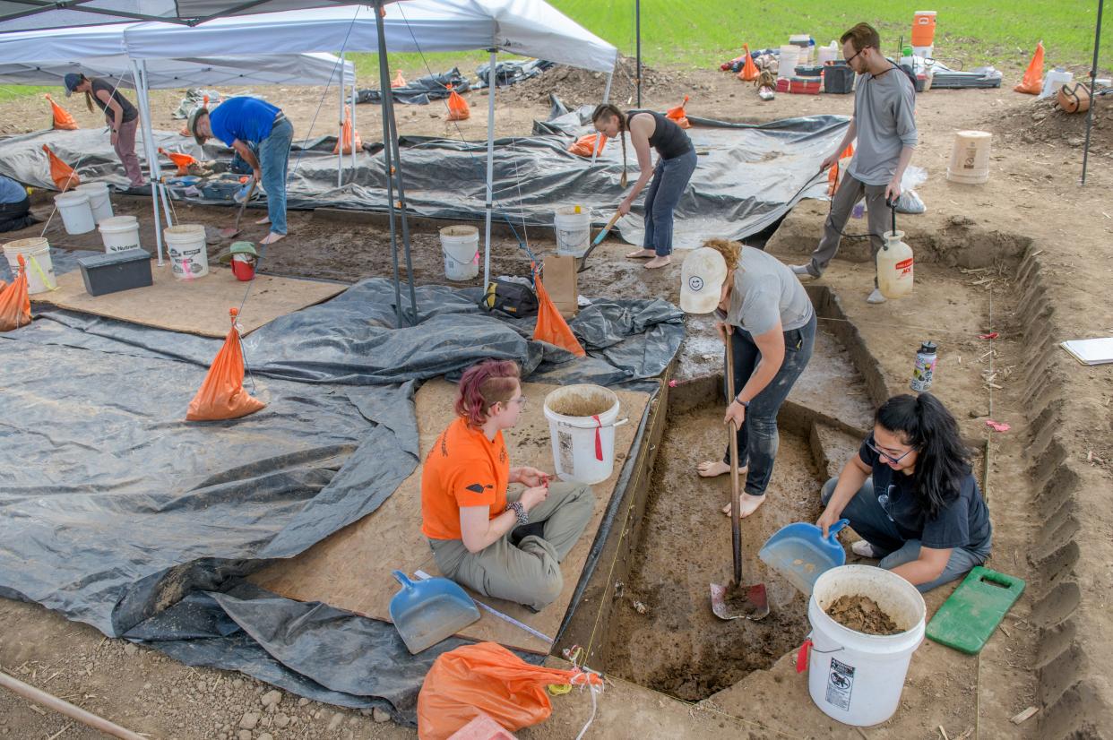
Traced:
<path id="1" fill-rule="evenodd" d="M 383 91 L 383 166 L 386 169 L 386 207 L 391 223 L 391 257 L 394 263 L 394 310 L 398 328 L 410 316 L 402 307 L 402 280 L 398 275 L 398 235 L 395 228 L 395 217 L 398 216 L 402 226 L 402 248 L 406 260 L 406 283 L 410 287 L 410 306 L 413 325 L 417 324 L 417 296 L 414 290 L 413 258 L 410 254 L 410 225 L 406 221 L 406 198 L 402 185 L 402 157 L 398 151 L 397 126 L 394 121 L 394 96 L 391 92 L 391 70 L 386 59 L 386 32 L 383 29 L 383 0 L 375 0 L 375 30 L 378 37 L 378 85 Z M 397 178 L 395 180 L 395 178 Z M 394 187 L 398 188 L 398 203 L 395 208 Z"/>

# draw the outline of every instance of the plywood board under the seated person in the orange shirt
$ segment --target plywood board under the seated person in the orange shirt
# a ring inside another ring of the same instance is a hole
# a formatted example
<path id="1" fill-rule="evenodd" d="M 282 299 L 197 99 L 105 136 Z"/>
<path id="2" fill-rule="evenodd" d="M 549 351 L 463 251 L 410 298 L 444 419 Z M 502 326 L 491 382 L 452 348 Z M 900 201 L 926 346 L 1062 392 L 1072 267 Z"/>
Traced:
<path id="1" fill-rule="evenodd" d="M 519 425 L 504 433 L 511 465 L 553 470 L 549 423 L 542 408 L 545 395 L 554 387 L 538 383 L 522 384 L 522 393 L 529 398 L 528 404 Z M 622 465 L 633 445 L 638 424 L 649 403 L 649 395 L 644 393 L 617 393 L 621 404 L 619 418 L 629 417 L 630 423 L 614 430 L 614 472 L 603 483 L 592 486 L 595 493 L 595 515 L 561 563 L 564 590 L 560 598 L 534 614 L 520 604 L 471 594 L 550 638 L 555 637 L 572 601 L 572 592 L 587 563 L 591 543 L 614 493 Z M 437 435 L 454 418 L 455 394 L 456 387 L 444 381 L 426 383 L 417 392 L 417 428 L 423 461 Z M 395 569 L 410 574 L 420 569 L 440 575 L 429 543 L 421 533 L 420 465 L 377 511 L 318 542 L 301 555 L 269 565 L 252 576 L 252 580 L 289 599 L 322 601 L 390 621 L 391 598 L 398 590 L 397 582 L 391 576 L 391 571 Z M 482 614 L 482 619 L 462 631 L 460 637 L 490 640 L 538 653 L 549 652 L 550 645 L 543 640 L 485 611 Z"/>

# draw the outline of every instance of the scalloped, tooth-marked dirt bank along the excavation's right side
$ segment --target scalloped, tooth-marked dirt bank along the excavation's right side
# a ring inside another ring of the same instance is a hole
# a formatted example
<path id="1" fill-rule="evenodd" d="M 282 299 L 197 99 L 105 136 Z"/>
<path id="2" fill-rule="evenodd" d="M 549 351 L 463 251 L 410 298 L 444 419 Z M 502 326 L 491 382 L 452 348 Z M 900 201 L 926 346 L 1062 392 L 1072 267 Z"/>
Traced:
<path id="1" fill-rule="evenodd" d="M 1081 386 L 1091 375 L 1057 346 L 1073 335 L 1074 325 L 1066 312 L 1056 309 L 1055 298 L 1062 296 L 1045 288 L 1044 277 L 1038 251 L 1030 248 L 1017 270 L 1017 287 L 1020 325 L 1031 357 L 1023 379 L 1031 399 L 1032 505 L 1042 522 L 1028 556 L 1035 574 L 1031 621 L 1037 631 L 1037 736 L 1113 738 L 1111 485 L 1080 448 L 1086 431 L 1109 433 L 1109 410 L 1095 410 L 1092 396 L 1086 403 L 1087 394 L 1072 392 L 1072 385 Z"/>

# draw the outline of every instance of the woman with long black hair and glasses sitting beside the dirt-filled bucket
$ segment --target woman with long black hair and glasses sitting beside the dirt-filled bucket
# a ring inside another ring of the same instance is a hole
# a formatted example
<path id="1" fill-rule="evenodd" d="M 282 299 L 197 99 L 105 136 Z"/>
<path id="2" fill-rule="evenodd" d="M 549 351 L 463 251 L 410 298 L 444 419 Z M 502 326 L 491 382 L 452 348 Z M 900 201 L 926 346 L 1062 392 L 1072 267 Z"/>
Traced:
<path id="1" fill-rule="evenodd" d="M 989 511 L 951 412 L 929 393 L 894 396 L 874 432 L 823 489 L 816 524 L 839 519 L 863 540 L 850 547 L 922 593 L 965 575 L 989 556 Z"/>

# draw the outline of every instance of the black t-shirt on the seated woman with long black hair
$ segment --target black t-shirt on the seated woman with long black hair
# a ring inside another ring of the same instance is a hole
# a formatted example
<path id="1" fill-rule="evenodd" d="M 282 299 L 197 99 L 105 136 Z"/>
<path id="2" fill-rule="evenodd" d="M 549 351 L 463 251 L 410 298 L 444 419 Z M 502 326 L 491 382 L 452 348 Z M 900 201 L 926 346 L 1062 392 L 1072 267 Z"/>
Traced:
<path id="1" fill-rule="evenodd" d="M 868 442 L 876 444 L 873 435 Z M 893 470 L 866 443 L 861 444 L 858 456 L 873 468 L 874 493 L 905 540 L 919 540 L 923 546 L 933 550 L 979 550 L 988 543 L 993 531 L 989 510 L 973 475 L 963 478 L 958 497 L 951 505 L 935 519 L 928 519 L 916 501 L 915 475 Z"/>

